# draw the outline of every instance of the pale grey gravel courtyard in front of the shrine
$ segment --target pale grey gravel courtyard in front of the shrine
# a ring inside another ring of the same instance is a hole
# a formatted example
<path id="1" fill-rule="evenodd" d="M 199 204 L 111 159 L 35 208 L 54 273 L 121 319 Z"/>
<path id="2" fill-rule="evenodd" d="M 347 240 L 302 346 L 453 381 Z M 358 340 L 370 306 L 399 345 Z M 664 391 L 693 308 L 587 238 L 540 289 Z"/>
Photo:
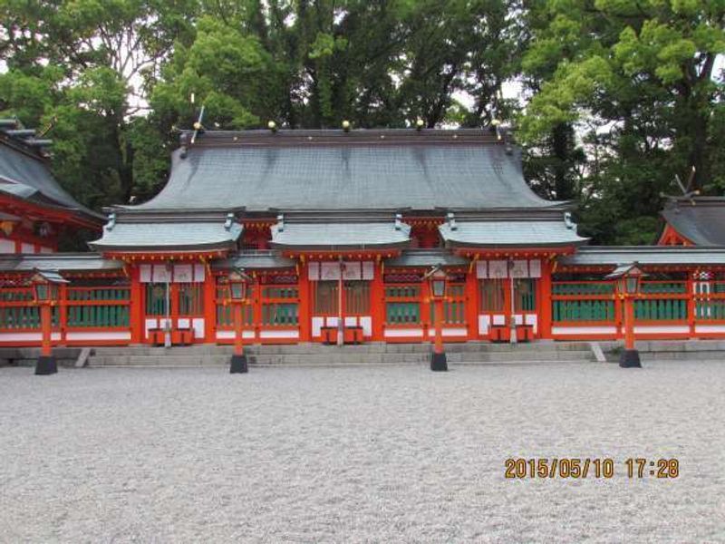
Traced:
<path id="1" fill-rule="evenodd" d="M 0 368 L 3 542 L 725 542 L 725 363 L 32 373 Z"/>

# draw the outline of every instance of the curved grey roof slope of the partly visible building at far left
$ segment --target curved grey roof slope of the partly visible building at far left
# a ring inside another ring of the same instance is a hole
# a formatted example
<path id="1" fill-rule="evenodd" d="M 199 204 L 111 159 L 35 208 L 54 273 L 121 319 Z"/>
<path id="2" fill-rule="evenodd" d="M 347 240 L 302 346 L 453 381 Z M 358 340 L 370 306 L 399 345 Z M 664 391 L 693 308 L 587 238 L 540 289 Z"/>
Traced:
<path id="1" fill-rule="evenodd" d="M 17 144 L 22 146 L 22 144 Z M 68 209 L 75 209 L 86 216 L 101 219 L 102 216 L 83 207 L 73 199 L 53 178 L 47 163 L 15 149 L 12 139 L 0 138 L 0 190 L 23 199 L 51 202 Z"/>

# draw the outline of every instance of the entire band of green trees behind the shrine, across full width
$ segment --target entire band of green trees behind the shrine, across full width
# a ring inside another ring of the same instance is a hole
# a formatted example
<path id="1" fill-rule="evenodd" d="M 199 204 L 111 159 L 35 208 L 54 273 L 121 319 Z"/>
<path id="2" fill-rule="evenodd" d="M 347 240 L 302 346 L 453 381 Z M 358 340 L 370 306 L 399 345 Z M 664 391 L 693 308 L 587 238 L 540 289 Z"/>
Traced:
<path id="1" fill-rule="evenodd" d="M 95 208 L 158 191 L 200 104 L 223 129 L 496 119 L 585 234 L 650 243 L 675 173 L 725 189 L 724 18 L 725 0 L 0 0 L 0 115 L 49 128 Z"/>

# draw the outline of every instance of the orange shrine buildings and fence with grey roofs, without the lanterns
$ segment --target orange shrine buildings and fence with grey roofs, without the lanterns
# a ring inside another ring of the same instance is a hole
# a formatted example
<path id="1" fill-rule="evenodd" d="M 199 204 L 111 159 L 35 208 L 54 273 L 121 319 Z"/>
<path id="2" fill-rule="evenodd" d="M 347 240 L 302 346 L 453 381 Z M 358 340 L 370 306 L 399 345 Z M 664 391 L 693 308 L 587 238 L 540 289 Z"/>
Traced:
<path id="1" fill-rule="evenodd" d="M 11 124 L 0 345 L 41 344 L 38 270 L 68 281 L 53 345 L 232 344 L 235 323 L 245 344 L 432 342 L 434 267 L 448 278 L 444 342 L 620 339 L 622 297 L 605 277 L 634 262 L 647 275 L 637 338 L 725 337 L 719 199 L 672 199 L 660 245 L 591 247 L 569 203 L 527 187 L 496 130 L 183 132 L 160 194 L 101 220 L 53 180 L 44 142 Z M 92 252 L 54 252 L 68 228 L 97 229 Z M 235 270 L 250 278 L 241 320 Z"/>

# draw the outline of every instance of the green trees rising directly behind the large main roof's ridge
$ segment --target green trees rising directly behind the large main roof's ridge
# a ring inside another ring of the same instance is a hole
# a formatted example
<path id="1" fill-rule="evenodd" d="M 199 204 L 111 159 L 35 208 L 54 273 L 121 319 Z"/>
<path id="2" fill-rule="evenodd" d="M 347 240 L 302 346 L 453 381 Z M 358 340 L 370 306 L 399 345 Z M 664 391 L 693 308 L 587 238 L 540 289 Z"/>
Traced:
<path id="1" fill-rule="evenodd" d="M 298 128 L 401 127 L 505 115 L 521 30 L 504 0 L 317 0 L 204 3 L 198 34 L 177 45 L 152 94 L 167 124 L 189 126 L 200 97 L 208 122 Z M 231 62 L 230 62 L 231 61 Z M 198 108 L 198 105 L 197 105 Z"/>

